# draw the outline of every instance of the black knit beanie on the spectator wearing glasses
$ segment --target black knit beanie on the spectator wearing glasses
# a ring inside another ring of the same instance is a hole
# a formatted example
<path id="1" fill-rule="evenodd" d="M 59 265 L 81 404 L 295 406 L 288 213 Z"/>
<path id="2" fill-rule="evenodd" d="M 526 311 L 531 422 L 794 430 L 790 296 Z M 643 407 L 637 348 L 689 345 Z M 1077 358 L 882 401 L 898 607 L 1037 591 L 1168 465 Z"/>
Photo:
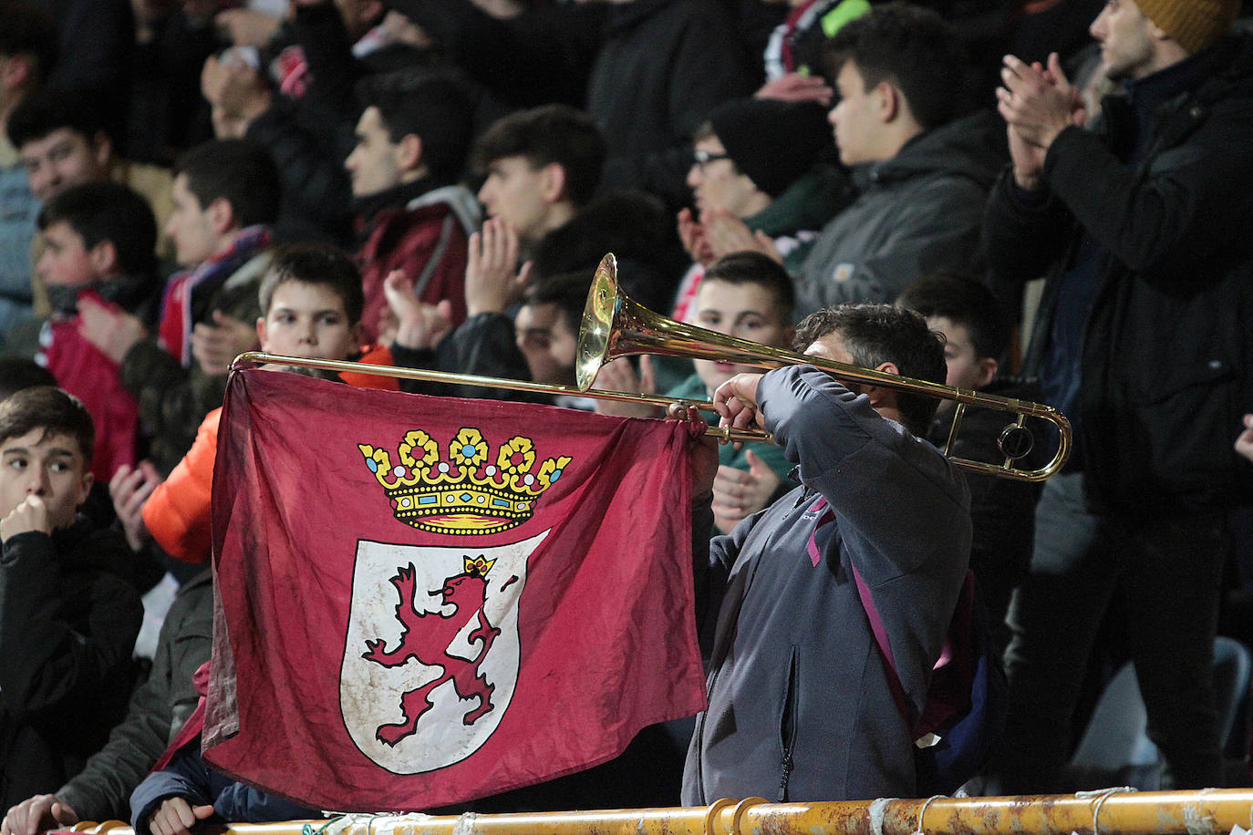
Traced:
<path id="1" fill-rule="evenodd" d="M 817 101 L 734 99 L 718 105 L 709 123 L 736 168 L 772 198 L 834 141 L 827 111 Z"/>

